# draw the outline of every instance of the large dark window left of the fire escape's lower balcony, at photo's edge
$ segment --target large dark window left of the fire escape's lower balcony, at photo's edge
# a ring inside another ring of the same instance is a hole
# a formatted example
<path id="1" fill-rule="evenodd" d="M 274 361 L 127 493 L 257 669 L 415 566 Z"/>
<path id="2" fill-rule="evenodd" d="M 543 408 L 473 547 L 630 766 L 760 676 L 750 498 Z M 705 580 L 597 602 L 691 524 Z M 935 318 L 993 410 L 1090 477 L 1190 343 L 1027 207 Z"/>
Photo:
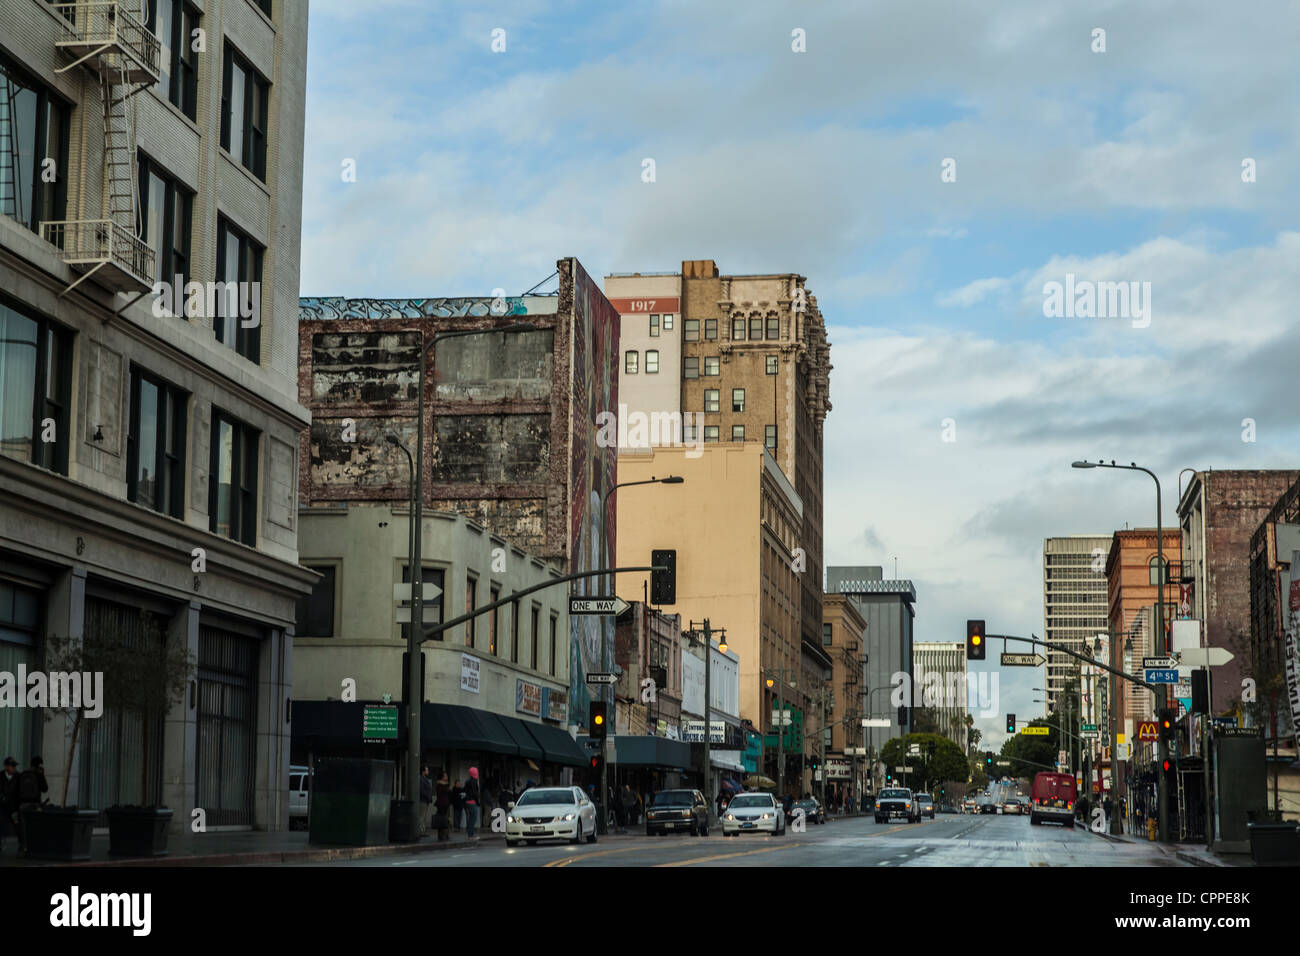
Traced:
<path id="1" fill-rule="evenodd" d="M 34 233 L 64 219 L 68 116 L 62 100 L 0 53 L 0 213 Z"/>

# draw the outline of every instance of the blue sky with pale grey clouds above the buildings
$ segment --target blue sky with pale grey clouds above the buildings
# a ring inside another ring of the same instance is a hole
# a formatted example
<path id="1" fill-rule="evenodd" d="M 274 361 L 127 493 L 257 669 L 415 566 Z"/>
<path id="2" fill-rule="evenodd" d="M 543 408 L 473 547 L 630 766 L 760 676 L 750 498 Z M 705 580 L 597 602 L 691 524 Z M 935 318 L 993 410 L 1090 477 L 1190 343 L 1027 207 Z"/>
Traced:
<path id="1" fill-rule="evenodd" d="M 302 294 L 803 274 L 826 563 L 897 559 L 916 640 L 1041 636 L 1043 538 L 1156 519 L 1070 462 L 1166 525 L 1183 468 L 1297 467 L 1296 49 L 1287 0 L 312 0 Z"/>

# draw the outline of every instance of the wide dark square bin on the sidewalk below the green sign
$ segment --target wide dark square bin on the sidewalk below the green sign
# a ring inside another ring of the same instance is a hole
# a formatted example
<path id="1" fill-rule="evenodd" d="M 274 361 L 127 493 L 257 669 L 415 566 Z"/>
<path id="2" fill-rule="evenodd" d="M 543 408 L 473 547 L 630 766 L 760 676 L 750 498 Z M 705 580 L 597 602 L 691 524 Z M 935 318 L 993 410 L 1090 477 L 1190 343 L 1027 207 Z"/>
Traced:
<path id="1" fill-rule="evenodd" d="M 311 843 L 374 847 L 389 842 L 396 763 L 322 760 L 312 777 Z"/>

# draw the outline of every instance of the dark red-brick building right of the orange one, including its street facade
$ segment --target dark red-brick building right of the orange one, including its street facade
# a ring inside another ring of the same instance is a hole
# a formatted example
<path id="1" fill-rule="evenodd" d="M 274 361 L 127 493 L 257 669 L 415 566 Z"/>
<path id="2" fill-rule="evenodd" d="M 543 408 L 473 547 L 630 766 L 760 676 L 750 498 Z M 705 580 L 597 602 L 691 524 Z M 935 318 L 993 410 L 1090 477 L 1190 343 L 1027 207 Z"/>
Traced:
<path id="1" fill-rule="evenodd" d="M 1300 471 L 1199 471 L 1178 501 L 1184 574 L 1175 597 L 1187 597 L 1187 617 L 1201 622 L 1201 646 L 1232 653 L 1210 667 L 1216 714 L 1240 710 L 1242 678 L 1252 675 L 1251 537 L 1297 477 Z"/>

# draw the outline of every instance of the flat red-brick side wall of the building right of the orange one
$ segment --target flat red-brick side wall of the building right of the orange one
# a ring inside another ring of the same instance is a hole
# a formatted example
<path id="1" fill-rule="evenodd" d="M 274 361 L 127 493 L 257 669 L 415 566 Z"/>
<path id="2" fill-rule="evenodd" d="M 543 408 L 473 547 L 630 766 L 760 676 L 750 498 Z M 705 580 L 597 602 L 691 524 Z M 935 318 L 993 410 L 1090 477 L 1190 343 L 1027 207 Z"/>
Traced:
<path id="1" fill-rule="evenodd" d="M 1205 486 L 1205 632 L 1232 659 L 1212 669 L 1213 706 L 1242 697 L 1251 676 L 1251 536 L 1300 472 L 1223 471 L 1201 475 Z"/>

